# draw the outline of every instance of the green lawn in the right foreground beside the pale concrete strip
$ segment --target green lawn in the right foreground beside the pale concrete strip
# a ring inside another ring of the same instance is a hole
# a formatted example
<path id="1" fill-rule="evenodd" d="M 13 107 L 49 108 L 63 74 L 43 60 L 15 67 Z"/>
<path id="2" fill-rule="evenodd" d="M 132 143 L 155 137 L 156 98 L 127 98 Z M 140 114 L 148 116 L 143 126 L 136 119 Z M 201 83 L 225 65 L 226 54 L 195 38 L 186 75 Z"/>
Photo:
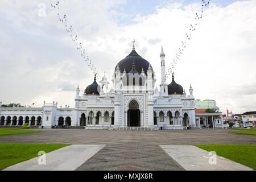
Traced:
<path id="1" fill-rule="evenodd" d="M 195 145 L 207 151 L 216 151 L 218 156 L 256 169 L 256 144 L 209 144 Z"/>

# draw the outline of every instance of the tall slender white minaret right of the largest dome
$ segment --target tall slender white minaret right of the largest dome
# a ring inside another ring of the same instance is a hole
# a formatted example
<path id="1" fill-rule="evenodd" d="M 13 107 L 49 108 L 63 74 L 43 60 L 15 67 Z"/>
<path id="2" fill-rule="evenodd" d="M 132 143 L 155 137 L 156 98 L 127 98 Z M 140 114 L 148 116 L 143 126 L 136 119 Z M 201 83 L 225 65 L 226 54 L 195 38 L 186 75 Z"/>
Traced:
<path id="1" fill-rule="evenodd" d="M 168 96 L 168 85 L 166 83 L 166 61 L 164 60 L 166 54 L 163 52 L 163 46 L 160 53 L 161 59 L 161 84 L 160 84 L 160 94 L 162 96 Z"/>

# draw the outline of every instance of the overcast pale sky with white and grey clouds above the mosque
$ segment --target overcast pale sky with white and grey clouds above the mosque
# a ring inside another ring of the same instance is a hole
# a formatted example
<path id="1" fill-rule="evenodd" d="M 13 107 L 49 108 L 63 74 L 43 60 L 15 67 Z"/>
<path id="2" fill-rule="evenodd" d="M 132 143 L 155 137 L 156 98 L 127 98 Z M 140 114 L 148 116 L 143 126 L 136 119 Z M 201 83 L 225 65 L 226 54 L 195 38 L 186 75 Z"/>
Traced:
<path id="1" fill-rule="evenodd" d="M 75 105 L 93 73 L 51 9 L 50 0 L 0 1 L 0 100 L 42 106 Z M 167 68 L 201 1 L 59 0 L 98 71 L 109 81 L 136 40 L 160 80 L 160 48 Z M 40 3 L 46 16 L 39 16 Z M 256 1 L 211 1 L 175 67 L 175 81 L 221 111 L 256 110 Z M 168 79 L 168 83 L 171 82 Z"/>

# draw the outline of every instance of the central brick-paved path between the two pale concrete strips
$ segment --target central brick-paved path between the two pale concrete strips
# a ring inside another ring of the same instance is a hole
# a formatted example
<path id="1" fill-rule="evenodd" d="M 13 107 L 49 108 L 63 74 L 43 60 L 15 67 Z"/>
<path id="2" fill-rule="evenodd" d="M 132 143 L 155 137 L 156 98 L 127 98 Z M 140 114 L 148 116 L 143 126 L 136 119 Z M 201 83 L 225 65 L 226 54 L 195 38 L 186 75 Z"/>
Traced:
<path id="1" fill-rule="evenodd" d="M 77 171 L 181 171 L 158 145 L 109 144 Z"/>

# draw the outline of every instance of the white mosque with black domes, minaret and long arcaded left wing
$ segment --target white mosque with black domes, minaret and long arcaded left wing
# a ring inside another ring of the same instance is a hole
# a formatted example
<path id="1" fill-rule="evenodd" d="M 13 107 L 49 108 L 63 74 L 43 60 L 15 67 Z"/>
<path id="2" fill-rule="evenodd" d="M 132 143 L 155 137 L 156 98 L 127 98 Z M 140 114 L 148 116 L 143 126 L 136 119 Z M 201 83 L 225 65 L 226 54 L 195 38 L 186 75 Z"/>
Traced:
<path id="1" fill-rule="evenodd" d="M 165 54 L 160 53 L 160 91 L 155 87 L 156 74 L 151 64 L 133 50 L 119 61 L 112 76 L 113 86 L 104 75 L 80 94 L 76 89 L 75 108 L 58 107 L 44 102 L 42 107 L 1 107 L 0 125 L 83 126 L 85 129 L 184 129 L 188 124 L 200 127 L 196 120 L 195 98 L 175 82 L 166 82 Z M 217 126 L 217 123 L 215 125 Z M 220 126 L 221 127 L 221 126 Z"/>

